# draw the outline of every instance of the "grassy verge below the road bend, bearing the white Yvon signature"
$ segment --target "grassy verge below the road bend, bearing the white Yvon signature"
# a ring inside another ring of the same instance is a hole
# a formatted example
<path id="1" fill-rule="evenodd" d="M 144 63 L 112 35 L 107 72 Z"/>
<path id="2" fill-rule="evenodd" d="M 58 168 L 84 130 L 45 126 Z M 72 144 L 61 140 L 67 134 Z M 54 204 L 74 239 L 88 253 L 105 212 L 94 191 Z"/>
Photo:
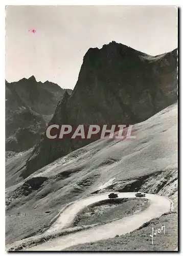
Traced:
<path id="1" fill-rule="evenodd" d="M 152 238 L 152 227 L 161 228 L 165 225 L 163 232 Z M 66 248 L 66 251 L 171 251 L 177 247 L 177 213 L 163 215 L 145 223 L 141 228 L 125 236 L 102 240 L 95 243 L 81 244 Z"/>

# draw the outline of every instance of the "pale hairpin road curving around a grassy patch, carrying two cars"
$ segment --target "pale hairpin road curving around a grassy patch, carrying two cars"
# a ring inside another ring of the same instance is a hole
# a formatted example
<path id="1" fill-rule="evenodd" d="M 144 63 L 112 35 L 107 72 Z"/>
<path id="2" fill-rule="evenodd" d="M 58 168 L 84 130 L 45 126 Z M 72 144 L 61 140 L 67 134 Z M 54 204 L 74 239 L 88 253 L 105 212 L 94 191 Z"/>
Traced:
<path id="1" fill-rule="evenodd" d="M 134 198 L 135 193 L 118 193 L 119 198 Z M 153 218 L 158 218 L 171 208 L 171 202 L 168 198 L 146 194 L 146 198 L 150 201 L 150 205 L 144 211 L 135 215 L 125 217 L 120 220 L 112 221 L 102 226 L 96 226 L 91 229 L 78 231 L 76 233 L 67 234 L 66 236 L 55 238 L 43 244 L 27 248 L 27 251 L 60 251 L 67 247 L 96 242 L 103 239 L 113 238 L 117 234 L 122 235 L 139 228 L 144 223 Z M 56 222 L 45 232 L 45 234 L 53 233 L 62 228 L 69 227 L 74 221 L 77 213 L 86 206 L 108 199 L 108 193 L 97 194 L 75 201 L 61 212 Z"/>

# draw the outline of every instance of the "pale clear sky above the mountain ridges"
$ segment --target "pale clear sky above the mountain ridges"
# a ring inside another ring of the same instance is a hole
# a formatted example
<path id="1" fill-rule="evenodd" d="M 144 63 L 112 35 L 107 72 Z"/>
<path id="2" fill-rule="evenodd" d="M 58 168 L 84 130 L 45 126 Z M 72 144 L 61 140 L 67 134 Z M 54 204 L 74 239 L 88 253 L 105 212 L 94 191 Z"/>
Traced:
<path id="1" fill-rule="evenodd" d="M 31 32 L 31 30 L 35 30 Z M 75 87 L 89 48 L 120 42 L 150 55 L 177 48 L 173 6 L 7 6 L 6 79 Z"/>

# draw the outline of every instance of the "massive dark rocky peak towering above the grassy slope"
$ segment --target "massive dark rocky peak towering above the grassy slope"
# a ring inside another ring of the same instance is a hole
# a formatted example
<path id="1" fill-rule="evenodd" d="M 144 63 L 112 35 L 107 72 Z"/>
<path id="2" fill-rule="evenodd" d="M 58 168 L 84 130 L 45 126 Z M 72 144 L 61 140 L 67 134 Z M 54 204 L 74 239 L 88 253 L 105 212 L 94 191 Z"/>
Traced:
<path id="1" fill-rule="evenodd" d="M 176 49 L 150 56 L 112 41 L 87 51 L 72 95 L 64 94 L 50 124 L 132 124 L 176 101 Z M 22 176 L 90 142 L 48 140 L 43 135 Z"/>

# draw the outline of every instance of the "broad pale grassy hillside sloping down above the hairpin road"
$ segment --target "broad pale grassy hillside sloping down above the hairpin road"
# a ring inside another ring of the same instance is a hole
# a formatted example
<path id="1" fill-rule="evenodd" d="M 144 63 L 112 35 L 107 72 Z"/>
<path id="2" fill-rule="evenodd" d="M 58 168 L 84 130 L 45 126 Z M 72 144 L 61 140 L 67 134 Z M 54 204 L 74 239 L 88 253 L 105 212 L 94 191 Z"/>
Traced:
<path id="1" fill-rule="evenodd" d="M 12 200 L 7 207 L 7 215 L 11 215 L 11 225 L 6 223 L 7 243 L 10 240 L 18 240 L 16 235 L 19 232 L 18 229 L 22 230 L 22 237 L 24 237 L 26 224 L 22 225 L 21 222 L 17 222 L 18 212 L 23 214 L 29 211 L 29 222 L 32 223 L 32 229 L 37 231 L 39 226 L 35 221 L 35 212 L 37 212 L 40 226 L 43 226 L 45 222 L 51 222 L 52 217 L 57 215 L 62 205 L 93 193 L 102 185 L 105 188 L 105 183 L 109 180 L 113 186 L 120 185 L 120 189 L 124 187 L 127 190 L 126 183 L 130 184 L 138 177 L 152 174 L 154 176 L 149 178 L 144 188 L 146 192 L 171 195 L 176 204 L 174 195 L 177 189 L 177 104 L 136 124 L 134 134 L 137 137 L 131 141 L 98 140 L 39 169 L 26 180 L 36 176 L 48 177 L 48 180 L 27 196 L 14 197 L 17 187 L 22 183 L 12 187 L 16 174 L 13 168 L 8 170 L 7 179 L 11 180 L 12 184 L 8 183 L 6 194 Z M 7 165 L 10 160 L 7 161 Z M 166 189 L 158 183 L 157 174 L 162 176 L 161 179 L 164 179 L 164 174 L 166 174 L 170 181 L 166 183 Z M 131 189 L 134 191 L 135 188 Z M 38 212 L 50 210 L 53 214 L 53 216 L 50 215 L 50 219 L 47 214 L 39 218 Z M 12 231 L 13 223 L 16 223 L 16 227 Z"/>

